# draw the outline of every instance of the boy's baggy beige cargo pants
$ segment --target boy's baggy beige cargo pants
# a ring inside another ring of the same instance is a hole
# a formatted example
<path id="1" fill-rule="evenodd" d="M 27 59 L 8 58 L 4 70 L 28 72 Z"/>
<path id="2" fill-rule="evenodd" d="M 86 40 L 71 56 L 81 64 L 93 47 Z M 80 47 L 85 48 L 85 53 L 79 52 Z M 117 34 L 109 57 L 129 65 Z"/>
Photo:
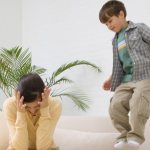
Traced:
<path id="1" fill-rule="evenodd" d="M 110 101 L 109 113 L 114 127 L 121 133 L 118 141 L 143 143 L 145 124 L 150 115 L 150 79 L 118 86 Z"/>

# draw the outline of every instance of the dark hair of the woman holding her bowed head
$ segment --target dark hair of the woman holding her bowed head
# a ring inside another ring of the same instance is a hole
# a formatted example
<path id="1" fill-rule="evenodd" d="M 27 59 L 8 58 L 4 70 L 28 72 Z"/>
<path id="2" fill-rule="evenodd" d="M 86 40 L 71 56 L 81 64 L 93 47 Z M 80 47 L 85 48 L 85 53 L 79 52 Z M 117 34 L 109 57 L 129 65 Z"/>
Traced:
<path id="1" fill-rule="evenodd" d="M 36 73 L 29 73 L 23 75 L 18 83 L 17 90 L 20 95 L 24 96 L 23 102 L 33 102 L 35 99 L 41 97 L 41 93 L 45 88 L 41 77 Z"/>

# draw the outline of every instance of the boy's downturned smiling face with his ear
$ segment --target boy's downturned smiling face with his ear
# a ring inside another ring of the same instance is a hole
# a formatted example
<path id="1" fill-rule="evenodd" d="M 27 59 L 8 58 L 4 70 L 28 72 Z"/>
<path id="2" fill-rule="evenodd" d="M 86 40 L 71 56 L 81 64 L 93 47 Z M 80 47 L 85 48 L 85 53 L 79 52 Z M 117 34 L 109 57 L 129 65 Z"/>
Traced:
<path id="1" fill-rule="evenodd" d="M 109 30 L 118 33 L 122 28 L 127 27 L 124 14 L 121 11 L 118 16 L 112 16 L 105 23 Z"/>

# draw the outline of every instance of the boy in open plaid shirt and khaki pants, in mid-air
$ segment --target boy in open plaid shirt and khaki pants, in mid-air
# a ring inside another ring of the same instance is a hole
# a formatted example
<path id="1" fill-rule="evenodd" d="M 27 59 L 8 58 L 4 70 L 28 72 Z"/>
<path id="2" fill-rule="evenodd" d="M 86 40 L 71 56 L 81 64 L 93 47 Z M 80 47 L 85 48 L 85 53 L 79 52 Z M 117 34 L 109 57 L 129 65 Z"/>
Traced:
<path id="1" fill-rule="evenodd" d="M 99 13 L 100 22 L 115 32 L 113 71 L 103 89 L 115 91 L 109 113 L 120 136 L 114 147 L 138 148 L 150 115 L 150 28 L 127 21 L 126 15 L 117 0 L 106 2 Z"/>

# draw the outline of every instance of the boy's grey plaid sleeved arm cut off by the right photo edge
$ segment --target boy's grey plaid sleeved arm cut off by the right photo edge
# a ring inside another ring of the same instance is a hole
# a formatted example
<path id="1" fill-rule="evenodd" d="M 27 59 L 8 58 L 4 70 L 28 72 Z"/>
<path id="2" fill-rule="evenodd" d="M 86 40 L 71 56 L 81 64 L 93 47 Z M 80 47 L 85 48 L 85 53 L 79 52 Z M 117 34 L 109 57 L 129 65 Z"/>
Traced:
<path id="1" fill-rule="evenodd" d="M 142 23 L 139 27 L 143 40 L 150 44 L 150 27 L 144 23 Z"/>

